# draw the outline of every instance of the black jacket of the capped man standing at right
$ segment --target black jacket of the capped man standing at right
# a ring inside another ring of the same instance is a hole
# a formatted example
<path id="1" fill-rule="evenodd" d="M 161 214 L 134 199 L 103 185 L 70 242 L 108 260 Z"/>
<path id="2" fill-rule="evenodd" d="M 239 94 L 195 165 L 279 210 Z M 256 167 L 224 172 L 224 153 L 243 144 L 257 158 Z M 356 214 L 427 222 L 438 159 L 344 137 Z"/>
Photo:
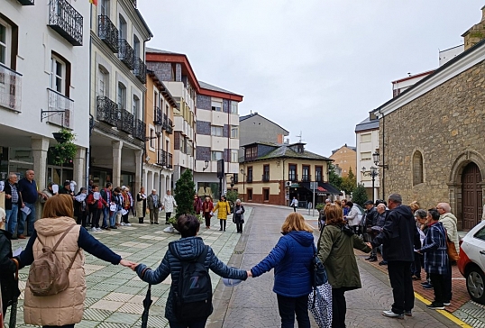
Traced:
<path id="1" fill-rule="evenodd" d="M 413 261 L 414 249 L 421 248 L 421 241 L 411 208 L 399 205 L 391 210 L 382 231 L 371 244 L 372 247 L 384 246 L 384 260 Z"/>

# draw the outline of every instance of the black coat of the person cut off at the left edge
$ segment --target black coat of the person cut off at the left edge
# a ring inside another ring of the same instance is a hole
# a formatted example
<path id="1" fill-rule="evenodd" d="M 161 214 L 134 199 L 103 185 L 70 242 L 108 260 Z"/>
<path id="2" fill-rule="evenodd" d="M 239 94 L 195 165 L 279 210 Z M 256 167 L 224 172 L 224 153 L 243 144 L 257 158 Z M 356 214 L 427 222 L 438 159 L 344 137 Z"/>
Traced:
<path id="1" fill-rule="evenodd" d="M 12 305 L 20 295 L 19 284 L 15 279 L 17 266 L 12 256 L 12 234 L 0 230 L 0 285 L 2 285 L 2 303 L 4 307 Z"/>

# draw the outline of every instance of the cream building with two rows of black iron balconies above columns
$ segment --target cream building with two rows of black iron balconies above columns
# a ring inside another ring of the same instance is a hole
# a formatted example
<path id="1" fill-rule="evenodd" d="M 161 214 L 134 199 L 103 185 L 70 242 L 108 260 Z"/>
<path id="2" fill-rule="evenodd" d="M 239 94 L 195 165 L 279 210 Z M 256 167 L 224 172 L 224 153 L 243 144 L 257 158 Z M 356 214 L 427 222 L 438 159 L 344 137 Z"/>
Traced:
<path id="1" fill-rule="evenodd" d="M 89 178 L 104 186 L 142 185 L 146 65 L 152 34 L 131 0 L 91 7 Z"/>

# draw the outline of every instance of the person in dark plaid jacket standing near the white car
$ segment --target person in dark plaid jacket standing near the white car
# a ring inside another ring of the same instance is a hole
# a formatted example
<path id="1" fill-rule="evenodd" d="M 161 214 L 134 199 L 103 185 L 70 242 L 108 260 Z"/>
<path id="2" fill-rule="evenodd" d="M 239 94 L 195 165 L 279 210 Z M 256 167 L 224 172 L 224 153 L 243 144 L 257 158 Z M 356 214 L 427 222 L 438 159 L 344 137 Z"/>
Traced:
<path id="1" fill-rule="evenodd" d="M 435 300 L 426 306 L 430 309 L 444 310 L 444 302 L 447 301 L 444 295 L 444 277 L 448 274 L 450 267 L 446 231 L 443 223 L 439 222 L 438 211 L 431 209 L 428 214 L 430 216 L 429 231 L 426 233 L 423 247 L 418 251 L 425 254 L 425 270 L 429 274 L 435 290 Z"/>

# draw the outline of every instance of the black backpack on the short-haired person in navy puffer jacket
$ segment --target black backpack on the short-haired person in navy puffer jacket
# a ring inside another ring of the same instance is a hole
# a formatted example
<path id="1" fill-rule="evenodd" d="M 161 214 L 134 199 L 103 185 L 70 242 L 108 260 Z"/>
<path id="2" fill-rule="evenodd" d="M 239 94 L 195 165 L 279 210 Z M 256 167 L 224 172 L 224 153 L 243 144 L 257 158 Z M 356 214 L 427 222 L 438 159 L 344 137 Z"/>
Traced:
<path id="1" fill-rule="evenodd" d="M 179 322 L 192 322 L 212 314 L 212 284 L 204 262 L 209 246 L 196 260 L 182 261 L 175 287 L 174 312 Z"/>

